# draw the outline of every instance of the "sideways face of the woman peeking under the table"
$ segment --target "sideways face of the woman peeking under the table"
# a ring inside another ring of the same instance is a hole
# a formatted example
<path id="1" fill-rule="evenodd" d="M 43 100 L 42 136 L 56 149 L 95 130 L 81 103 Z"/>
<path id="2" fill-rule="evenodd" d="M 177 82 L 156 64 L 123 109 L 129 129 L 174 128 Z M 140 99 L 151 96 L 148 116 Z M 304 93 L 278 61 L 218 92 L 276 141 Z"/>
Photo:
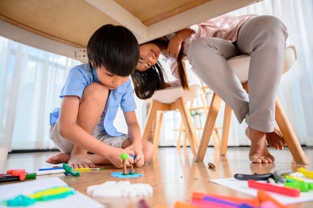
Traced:
<path id="1" fill-rule="evenodd" d="M 154 43 L 145 43 L 139 45 L 140 57 L 136 69 L 145 71 L 157 62 L 160 48 Z"/>

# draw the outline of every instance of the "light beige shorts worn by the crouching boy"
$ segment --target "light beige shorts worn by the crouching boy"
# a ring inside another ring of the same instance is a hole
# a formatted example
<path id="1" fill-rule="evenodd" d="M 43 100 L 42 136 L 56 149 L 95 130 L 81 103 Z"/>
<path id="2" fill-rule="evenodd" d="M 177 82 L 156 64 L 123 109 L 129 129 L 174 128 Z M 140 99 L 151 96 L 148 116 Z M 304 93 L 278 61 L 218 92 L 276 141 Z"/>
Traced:
<path id="1" fill-rule="evenodd" d="M 74 147 L 74 144 L 59 135 L 58 120 L 54 124 L 50 125 L 49 134 L 50 134 L 50 139 L 53 141 L 56 148 L 58 148 L 63 153 L 71 153 Z M 118 147 L 118 148 L 121 148 L 122 143 L 128 138 L 127 134 L 123 134 L 120 136 L 111 136 L 107 134 L 105 131 L 99 131 L 97 129 L 94 129 L 91 135 L 107 145 Z"/>

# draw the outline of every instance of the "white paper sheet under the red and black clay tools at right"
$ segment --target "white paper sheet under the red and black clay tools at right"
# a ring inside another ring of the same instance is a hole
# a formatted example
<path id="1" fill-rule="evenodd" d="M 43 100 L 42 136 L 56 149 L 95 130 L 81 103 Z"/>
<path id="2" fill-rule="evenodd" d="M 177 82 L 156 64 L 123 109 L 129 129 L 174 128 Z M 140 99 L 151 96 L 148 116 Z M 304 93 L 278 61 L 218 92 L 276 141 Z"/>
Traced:
<path id="1" fill-rule="evenodd" d="M 210 179 L 210 181 L 217 183 L 219 185 L 223 185 L 225 187 L 246 193 L 248 195 L 252 195 L 256 197 L 257 189 L 250 188 L 248 186 L 248 182 L 246 180 L 238 180 L 236 178 L 220 178 L 220 179 Z M 305 180 L 306 182 L 313 182 L 313 180 Z M 259 181 L 260 182 L 260 181 Z M 266 182 L 266 181 L 263 181 Z M 282 185 L 282 184 L 281 184 Z M 270 196 L 275 198 L 281 204 L 290 204 L 290 203 L 298 203 L 305 201 L 313 200 L 313 191 L 309 192 L 301 192 L 299 197 L 287 196 L 279 193 L 274 193 L 270 191 L 266 191 Z"/>

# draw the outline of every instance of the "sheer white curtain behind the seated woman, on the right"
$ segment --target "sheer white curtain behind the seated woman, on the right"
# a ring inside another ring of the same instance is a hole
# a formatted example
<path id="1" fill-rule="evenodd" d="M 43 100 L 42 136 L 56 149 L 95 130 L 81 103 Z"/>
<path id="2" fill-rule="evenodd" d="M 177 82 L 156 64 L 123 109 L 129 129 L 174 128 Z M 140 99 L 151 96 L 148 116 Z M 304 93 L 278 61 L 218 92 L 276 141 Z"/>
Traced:
<path id="1" fill-rule="evenodd" d="M 292 68 L 282 75 L 278 97 L 300 143 L 312 146 L 313 1 L 263 0 L 229 13 L 233 15 L 249 13 L 273 15 L 281 19 L 286 25 L 289 33 L 286 44 L 295 45 L 297 60 Z M 217 116 L 217 126 L 222 126 L 222 109 L 223 108 L 221 108 Z M 202 116 L 202 120 L 203 117 L 204 116 Z M 167 122 L 164 122 L 162 125 L 160 145 L 176 145 L 178 131 L 174 131 L 173 129 L 179 128 L 179 114 L 165 113 L 163 119 L 167 120 Z M 169 125 L 169 123 L 171 123 L 171 125 Z M 204 121 L 202 121 L 202 125 L 203 124 Z M 239 124 L 232 113 L 228 145 L 249 145 L 249 140 L 244 134 L 245 128 L 245 122 Z M 201 136 L 201 131 L 197 131 Z M 209 145 L 212 145 L 212 139 Z"/>

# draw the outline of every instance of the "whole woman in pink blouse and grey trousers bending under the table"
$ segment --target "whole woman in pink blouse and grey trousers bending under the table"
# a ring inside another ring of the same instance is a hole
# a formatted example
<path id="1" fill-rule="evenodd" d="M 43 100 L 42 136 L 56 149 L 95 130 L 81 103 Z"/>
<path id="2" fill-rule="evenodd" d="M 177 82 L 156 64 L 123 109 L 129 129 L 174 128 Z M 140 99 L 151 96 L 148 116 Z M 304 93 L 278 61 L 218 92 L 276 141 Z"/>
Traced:
<path id="1" fill-rule="evenodd" d="M 192 68 L 233 109 L 237 120 L 241 123 L 245 119 L 246 135 L 251 140 L 249 159 L 255 163 L 271 163 L 274 157 L 268 152 L 266 140 L 274 148 L 282 149 L 286 145 L 280 130 L 274 127 L 274 108 L 287 35 L 286 27 L 278 18 L 254 14 L 221 15 L 166 35 L 163 39 L 168 40 L 167 47 L 157 45 L 159 50 L 151 47 L 143 53 L 144 44 L 140 46 L 140 60 L 136 73 L 132 74 L 136 94 L 144 98 L 144 95 L 151 96 L 153 90 L 166 87 L 161 80 L 147 88 L 153 77 L 137 75 L 148 70 L 161 75 L 156 67 L 148 68 L 156 63 L 159 51 L 165 57 L 174 57 L 178 63 L 182 55 L 187 54 Z M 249 96 L 226 61 L 240 54 L 251 55 Z M 171 67 L 171 71 L 187 88 L 184 71 L 179 67 Z M 168 83 L 173 84 L 177 82 Z"/>

